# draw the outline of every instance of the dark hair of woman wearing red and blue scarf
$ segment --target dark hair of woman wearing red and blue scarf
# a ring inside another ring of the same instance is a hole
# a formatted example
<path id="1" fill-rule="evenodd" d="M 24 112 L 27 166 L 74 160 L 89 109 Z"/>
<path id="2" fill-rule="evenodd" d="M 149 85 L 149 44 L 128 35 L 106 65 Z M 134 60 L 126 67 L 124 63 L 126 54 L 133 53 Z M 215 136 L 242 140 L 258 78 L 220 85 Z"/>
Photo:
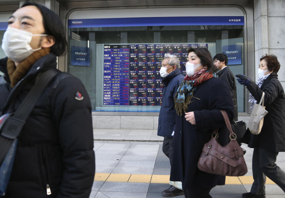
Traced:
<path id="1" fill-rule="evenodd" d="M 190 52 L 194 52 L 201 59 L 202 65 L 208 66 L 209 71 L 213 73 L 216 73 L 218 71 L 218 68 L 213 64 L 211 53 L 206 48 L 189 48 L 187 52 L 188 54 Z"/>

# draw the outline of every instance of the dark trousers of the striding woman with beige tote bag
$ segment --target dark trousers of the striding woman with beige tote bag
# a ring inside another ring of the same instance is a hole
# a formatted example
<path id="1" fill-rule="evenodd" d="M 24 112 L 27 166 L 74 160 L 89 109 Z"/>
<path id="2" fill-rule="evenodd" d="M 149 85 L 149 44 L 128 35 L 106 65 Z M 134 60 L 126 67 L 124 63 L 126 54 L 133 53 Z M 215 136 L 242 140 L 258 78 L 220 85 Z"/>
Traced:
<path id="1" fill-rule="evenodd" d="M 265 194 L 266 176 L 285 192 L 285 172 L 276 164 L 278 152 L 254 148 L 252 156 L 252 173 L 254 182 L 250 192 L 256 195 Z"/>

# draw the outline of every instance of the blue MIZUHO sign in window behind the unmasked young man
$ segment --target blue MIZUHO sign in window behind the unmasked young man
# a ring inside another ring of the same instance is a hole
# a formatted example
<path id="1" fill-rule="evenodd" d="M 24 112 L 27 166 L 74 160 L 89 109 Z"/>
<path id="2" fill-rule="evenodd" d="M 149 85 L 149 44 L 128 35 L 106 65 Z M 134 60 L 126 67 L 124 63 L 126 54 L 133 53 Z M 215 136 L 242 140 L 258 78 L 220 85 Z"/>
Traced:
<path id="1" fill-rule="evenodd" d="M 225 45 L 222 47 L 222 53 L 228 57 L 228 65 L 241 64 L 241 45 Z"/>

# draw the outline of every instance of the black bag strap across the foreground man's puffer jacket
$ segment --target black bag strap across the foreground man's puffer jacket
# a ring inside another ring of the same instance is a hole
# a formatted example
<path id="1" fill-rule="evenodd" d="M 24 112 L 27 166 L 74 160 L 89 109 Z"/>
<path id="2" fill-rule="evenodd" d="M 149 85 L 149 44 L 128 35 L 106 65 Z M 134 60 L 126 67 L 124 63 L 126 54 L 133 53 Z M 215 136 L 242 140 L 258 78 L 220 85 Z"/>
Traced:
<path id="1" fill-rule="evenodd" d="M 31 111 L 34 109 L 39 97 L 42 95 L 43 90 L 53 77 L 58 74 L 57 69 L 50 69 L 40 73 L 34 86 L 15 113 L 7 118 L 4 125 L 1 127 L 0 135 L 0 165 L 2 164 L 7 152 L 10 149 L 13 141 L 19 136 L 26 120 L 28 119 Z"/>

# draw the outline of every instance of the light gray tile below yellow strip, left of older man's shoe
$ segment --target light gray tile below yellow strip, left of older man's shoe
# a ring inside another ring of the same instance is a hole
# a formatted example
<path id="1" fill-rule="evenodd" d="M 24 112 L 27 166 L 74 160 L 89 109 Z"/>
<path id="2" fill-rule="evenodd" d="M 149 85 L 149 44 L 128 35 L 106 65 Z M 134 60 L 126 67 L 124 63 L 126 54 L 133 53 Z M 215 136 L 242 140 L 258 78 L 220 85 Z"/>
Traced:
<path id="1" fill-rule="evenodd" d="M 100 191 L 147 193 L 149 183 L 105 182 Z"/>

